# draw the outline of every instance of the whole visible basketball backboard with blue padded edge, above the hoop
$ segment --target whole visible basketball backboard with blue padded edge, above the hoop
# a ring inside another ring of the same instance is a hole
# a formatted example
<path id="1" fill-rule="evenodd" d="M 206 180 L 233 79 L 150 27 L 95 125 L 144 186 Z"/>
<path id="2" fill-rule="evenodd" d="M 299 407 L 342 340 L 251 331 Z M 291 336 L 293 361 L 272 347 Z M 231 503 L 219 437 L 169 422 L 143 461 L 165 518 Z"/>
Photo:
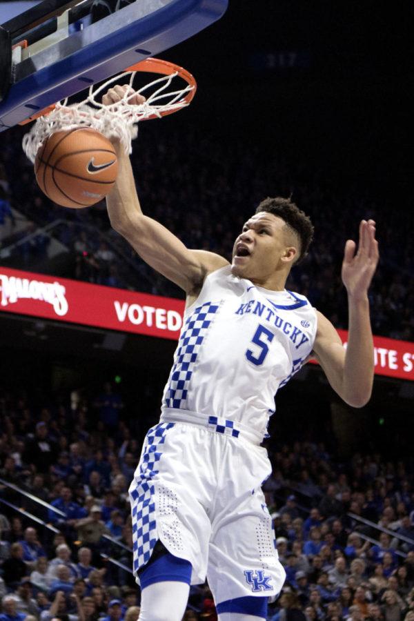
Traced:
<path id="1" fill-rule="evenodd" d="M 91 23 L 92 0 L 43 0 L 0 27 L 0 131 L 192 37 L 227 4 L 135 0 Z"/>

